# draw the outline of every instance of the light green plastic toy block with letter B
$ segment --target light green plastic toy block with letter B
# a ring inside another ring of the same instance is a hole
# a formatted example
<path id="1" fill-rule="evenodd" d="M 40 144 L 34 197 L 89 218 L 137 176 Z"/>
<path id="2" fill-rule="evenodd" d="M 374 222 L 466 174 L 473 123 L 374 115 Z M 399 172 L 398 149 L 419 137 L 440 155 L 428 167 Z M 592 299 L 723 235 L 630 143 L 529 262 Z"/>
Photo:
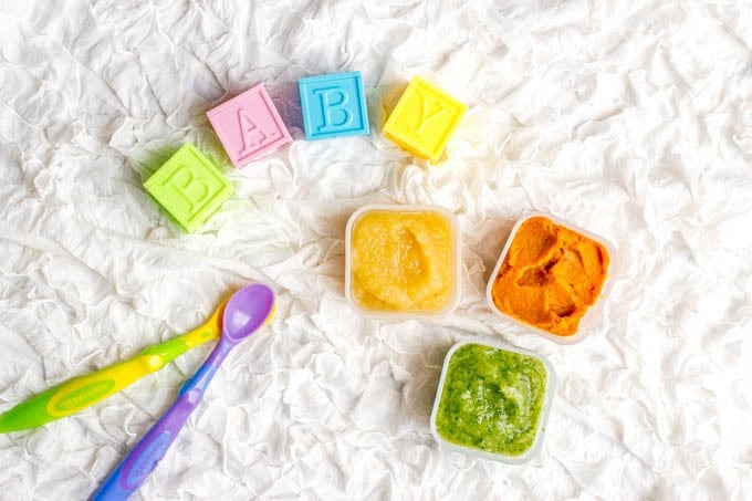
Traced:
<path id="1" fill-rule="evenodd" d="M 190 143 L 159 167 L 144 188 L 186 231 L 196 231 L 232 196 L 230 181 Z"/>

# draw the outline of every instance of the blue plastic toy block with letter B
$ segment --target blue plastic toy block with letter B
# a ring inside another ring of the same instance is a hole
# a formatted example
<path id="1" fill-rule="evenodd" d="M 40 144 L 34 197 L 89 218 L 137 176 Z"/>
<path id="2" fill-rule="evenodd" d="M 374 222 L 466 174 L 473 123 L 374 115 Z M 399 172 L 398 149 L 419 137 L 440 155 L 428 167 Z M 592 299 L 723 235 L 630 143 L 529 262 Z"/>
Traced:
<path id="1" fill-rule="evenodd" d="M 307 140 L 370 133 L 359 71 L 306 76 L 297 85 Z"/>

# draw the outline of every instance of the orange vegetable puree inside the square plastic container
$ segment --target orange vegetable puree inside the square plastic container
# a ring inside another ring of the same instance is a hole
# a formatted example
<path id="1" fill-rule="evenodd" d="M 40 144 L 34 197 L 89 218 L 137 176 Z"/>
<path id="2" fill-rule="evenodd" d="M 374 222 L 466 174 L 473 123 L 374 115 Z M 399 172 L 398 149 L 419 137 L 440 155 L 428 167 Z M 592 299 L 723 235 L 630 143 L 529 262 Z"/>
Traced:
<path id="1" fill-rule="evenodd" d="M 491 296 L 503 313 L 570 336 L 600 295 L 608 261 L 600 243 L 534 217 L 514 234 Z"/>

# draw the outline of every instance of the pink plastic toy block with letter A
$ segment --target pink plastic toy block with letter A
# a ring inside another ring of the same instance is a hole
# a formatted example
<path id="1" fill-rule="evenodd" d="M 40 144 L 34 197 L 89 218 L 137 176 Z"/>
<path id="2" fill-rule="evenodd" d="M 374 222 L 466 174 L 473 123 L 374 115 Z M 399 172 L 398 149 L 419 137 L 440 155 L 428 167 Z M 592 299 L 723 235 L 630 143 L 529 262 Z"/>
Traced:
<path id="1" fill-rule="evenodd" d="M 207 112 L 232 165 L 242 167 L 292 142 L 263 85 Z"/>

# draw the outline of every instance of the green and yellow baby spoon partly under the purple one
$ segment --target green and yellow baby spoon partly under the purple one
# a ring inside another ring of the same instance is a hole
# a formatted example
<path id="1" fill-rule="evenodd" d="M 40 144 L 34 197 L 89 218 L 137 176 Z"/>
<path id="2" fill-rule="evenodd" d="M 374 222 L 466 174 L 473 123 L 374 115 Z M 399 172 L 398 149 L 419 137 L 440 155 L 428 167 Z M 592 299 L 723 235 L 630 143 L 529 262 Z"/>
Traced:
<path id="1" fill-rule="evenodd" d="M 66 380 L 1 414 L 0 434 L 34 428 L 79 413 L 159 370 L 187 351 L 216 340 L 222 328 L 224 304 L 203 325 L 189 333 L 149 346 L 128 361 Z"/>

